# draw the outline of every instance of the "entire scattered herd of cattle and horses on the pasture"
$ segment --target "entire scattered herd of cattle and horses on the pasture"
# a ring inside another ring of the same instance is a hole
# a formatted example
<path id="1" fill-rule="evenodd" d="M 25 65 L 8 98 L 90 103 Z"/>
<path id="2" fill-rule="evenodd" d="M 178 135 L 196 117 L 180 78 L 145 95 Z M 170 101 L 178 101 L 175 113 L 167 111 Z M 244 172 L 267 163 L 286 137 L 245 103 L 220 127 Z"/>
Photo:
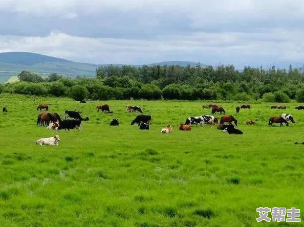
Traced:
<path id="1" fill-rule="evenodd" d="M 80 101 L 81 103 L 86 103 L 85 101 Z M 212 108 L 211 114 L 215 114 L 216 112 L 220 113 L 226 113 L 225 109 L 221 106 L 218 106 L 216 104 L 209 104 L 209 105 L 203 105 L 202 108 Z M 249 104 L 243 104 L 241 107 L 236 106 L 235 110 L 236 113 L 240 112 L 240 109 L 250 109 L 251 106 Z M 271 106 L 271 109 L 286 109 L 286 106 Z M 304 106 L 297 106 L 296 109 L 304 109 Z M 49 110 L 49 106 L 46 104 L 40 104 L 37 107 L 37 110 L 45 109 L 46 111 Z M 113 113 L 113 111 L 110 110 L 110 107 L 107 104 L 98 105 L 96 107 L 97 111 L 101 110 L 104 113 Z M 7 108 L 3 107 L 3 112 L 7 112 Z M 126 106 L 127 112 L 134 112 L 138 111 L 140 113 L 143 113 L 142 109 L 139 106 Z M 36 144 L 39 145 L 58 145 L 60 138 L 58 135 L 58 131 L 65 129 L 78 129 L 81 130 L 81 122 L 82 121 L 89 121 L 89 117 L 83 118 L 80 115 L 80 111 L 73 111 L 73 110 L 65 110 L 65 118 L 64 120 L 61 120 L 58 113 L 50 113 L 50 112 L 40 112 L 38 114 L 37 123 L 36 125 L 39 126 L 48 126 L 48 129 L 57 130 L 57 134 L 54 137 L 50 138 L 41 138 L 36 141 Z M 67 119 L 71 118 L 71 119 Z M 138 115 L 136 118 L 131 122 L 131 125 L 137 124 L 139 129 L 141 130 L 149 130 L 150 129 L 150 121 L 151 121 L 151 115 Z M 283 126 L 283 123 L 286 124 L 286 126 L 289 126 L 288 122 L 295 123 L 293 116 L 287 113 L 283 113 L 281 116 L 275 116 L 271 117 L 269 119 L 268 125 L 271 126 L 273 123 L 280 123 L 280 126 Z M 198 117 L 188 117 L 186 118 L 185 124 L 180 124 L 179 130 L 188 131 L 191 130 L 192 125 L 205 125 L 209 124 L 211 127 L 215 124 L 218 124 L 219 120 L 218 118 L 215 118 L 212 115 L 202 115 Z M 228 125 L 225 123 L 229 123 Z M 243 132 L 240 129 L 237 129 L 232 124 L 234 123 L 235 126 L 237 126 L 237 120 L 232 115 L 224 115 L 220 119 L 220 124 L 217 126 L 217 129 L 222 130 L 223 132 L 228 132 L 229 134 L 243 134 Z M 246 121 L 246 125 L 253 125 L 255 124 L 252 120 L 248 119 Z M 117 118 L 114 118 L 110 122 L 110 126 L 118 126 L 119 121 Z M 167 125 L 165 128 L 161 129 L 162 133 L 171 133 L 173 131 L 173 128 L 171 125 Z"/>

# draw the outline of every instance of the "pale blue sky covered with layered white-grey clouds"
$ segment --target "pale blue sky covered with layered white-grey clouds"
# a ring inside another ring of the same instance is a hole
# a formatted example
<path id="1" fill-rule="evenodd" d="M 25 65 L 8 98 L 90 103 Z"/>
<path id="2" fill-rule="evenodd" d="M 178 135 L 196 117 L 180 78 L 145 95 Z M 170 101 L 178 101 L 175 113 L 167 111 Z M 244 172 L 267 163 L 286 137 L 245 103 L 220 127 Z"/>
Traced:
<path id="1" fill-rule="evenodd" d="M 94 64 L 304 64 L 301 0 L 1 0 L 0 52 Z"/>

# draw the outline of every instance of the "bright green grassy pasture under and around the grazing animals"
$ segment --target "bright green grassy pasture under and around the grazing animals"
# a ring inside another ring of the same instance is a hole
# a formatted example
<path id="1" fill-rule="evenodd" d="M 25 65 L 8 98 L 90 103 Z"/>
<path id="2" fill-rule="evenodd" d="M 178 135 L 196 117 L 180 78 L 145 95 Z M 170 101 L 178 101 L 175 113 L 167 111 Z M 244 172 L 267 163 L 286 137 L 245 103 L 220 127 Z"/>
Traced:
<path id="1" fill-rule="evenodd" d="M 60 131 L 57 147 L 35 145 L 55 134 L 36 126 L 40 103 L 61 117 L 82 111 L 90 121 L 80 132 Z M 112 116 L 96 111 L 102 103 Z M 236 114 L 239 104 L 220 103 L 243 135 L 208 125 L 178 130 L 187 117 L 210 114 L 201 108 L 207 103 L 1 95 L 8 113 L 0 117 L 0 226 L 302 226 L 304 210 L 301 223 L 258 223 L 256 208 L 304 209 L 304 145 L 294 145 L 304 141 L 304 110 L 261 103 Z M 152 116 L 150 130 L 130 125 L 137 113 L 126 105 Z M 295 125 L 268 126 L 284 112 Z M 109 126 L 112 118 L 118 127 Z M 160 133 L 167 124 L 173 132 Z"/>

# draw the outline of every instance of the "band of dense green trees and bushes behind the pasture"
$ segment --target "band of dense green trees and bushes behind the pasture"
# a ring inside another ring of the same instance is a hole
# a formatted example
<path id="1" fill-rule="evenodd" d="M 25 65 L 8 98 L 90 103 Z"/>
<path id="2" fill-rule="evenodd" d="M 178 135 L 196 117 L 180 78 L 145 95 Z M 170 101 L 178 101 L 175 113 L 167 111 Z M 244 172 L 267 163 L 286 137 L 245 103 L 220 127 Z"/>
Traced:
<path id="1" fill-rule="evenodd" d="M 258 100 L 304 102 L 304 71 L 268 70 L 233 65 L 185 67 L 108 65 L 96 69 L 96 77 L 71 79 L 58 74 L 42 77 L 23 71 L 20 82 L 0 86 L 0 92 L 37 96 L 71 97 L 75 100 Z"/>

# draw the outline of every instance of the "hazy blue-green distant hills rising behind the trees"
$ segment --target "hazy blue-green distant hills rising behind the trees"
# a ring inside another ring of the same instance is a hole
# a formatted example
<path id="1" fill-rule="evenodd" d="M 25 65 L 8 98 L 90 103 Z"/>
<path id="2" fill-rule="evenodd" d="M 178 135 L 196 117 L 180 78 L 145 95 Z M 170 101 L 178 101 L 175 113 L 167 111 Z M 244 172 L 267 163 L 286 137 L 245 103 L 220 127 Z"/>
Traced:
<path id="1" fill-rule="evenodd" d="M 147 64 L 151 65 L 181 65 L 195 66 L 197 62 L 191 61 L 164 61 L 159 63 Z M 50 73 L 58 73 L 70 77 L 88 76 L 94 77 L 96 68 L 110 64 L 89 64 L 74 62 L 62 58 L 51 57 L 42 54 L 30 52 L 5 52 L 0 53 L 0 82 L 7 81 L 11 76 L 17 76 L 21 71 L 28 70 L 38 74 L 48 75 Z M 113 64 L 122 66 L 123 64 Z M 142 65 L 132 65 L 140 67 Z"/>

